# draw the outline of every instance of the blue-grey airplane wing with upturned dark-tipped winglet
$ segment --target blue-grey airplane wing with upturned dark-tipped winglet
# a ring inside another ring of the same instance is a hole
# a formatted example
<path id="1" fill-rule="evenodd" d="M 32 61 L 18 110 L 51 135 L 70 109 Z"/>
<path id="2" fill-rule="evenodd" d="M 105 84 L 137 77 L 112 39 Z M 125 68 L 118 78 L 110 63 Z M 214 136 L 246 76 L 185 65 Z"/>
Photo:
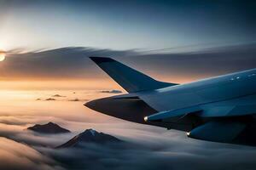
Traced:
<path id="1" fill-rule="evenodd" d="M 156 81 L 114 59 L 90 59 L 129 94 L 92 100 L 87 107 L 126 121 L 186 131 L 193 139 L 256 145 L 253 70 L 178 85 Z"/>

